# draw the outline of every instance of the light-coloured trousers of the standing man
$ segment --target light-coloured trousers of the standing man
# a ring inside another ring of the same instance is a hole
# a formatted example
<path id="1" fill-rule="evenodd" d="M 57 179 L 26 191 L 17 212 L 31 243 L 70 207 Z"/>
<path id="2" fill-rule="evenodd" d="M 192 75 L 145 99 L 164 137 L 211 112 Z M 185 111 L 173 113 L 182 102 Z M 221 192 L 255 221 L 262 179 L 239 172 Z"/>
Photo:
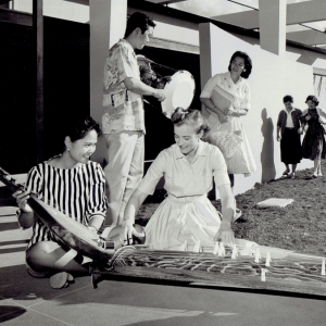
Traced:
<path id="1" fill-rule="evenodd" d="M 121 225 L 131 193 L 143 174 L 143 133 L 105 134 L 108 165 L 104 167 L 109 201 L 105 225 Z"/>

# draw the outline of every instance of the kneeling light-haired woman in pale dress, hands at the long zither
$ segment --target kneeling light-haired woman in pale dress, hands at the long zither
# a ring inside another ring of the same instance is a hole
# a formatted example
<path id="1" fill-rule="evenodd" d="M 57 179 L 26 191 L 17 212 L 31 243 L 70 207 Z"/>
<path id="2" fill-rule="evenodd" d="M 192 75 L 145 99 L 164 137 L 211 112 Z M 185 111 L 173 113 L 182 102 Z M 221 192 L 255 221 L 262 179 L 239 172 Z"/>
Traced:
<path id="1" fill-rule="evenodd" d="M 223 154 L 217 147 L 201 141 L 208 124 L 200 111 L 177 109 L 172 122 L 176 143 L 158 155 L 128 201 L 121 241 L 133 243 L 135 216 L 164 177 L 167 197 L 145 228 L 146 243 L 150 248 L 178 250 L 185 241 L 190 248 L 198 241 L 201 246 L 213 247 L 220 238 L 233 243 L 230 223 L 235 199 Z M 221 195 L 222 221 L 206 198 L 213 177 Z"/>

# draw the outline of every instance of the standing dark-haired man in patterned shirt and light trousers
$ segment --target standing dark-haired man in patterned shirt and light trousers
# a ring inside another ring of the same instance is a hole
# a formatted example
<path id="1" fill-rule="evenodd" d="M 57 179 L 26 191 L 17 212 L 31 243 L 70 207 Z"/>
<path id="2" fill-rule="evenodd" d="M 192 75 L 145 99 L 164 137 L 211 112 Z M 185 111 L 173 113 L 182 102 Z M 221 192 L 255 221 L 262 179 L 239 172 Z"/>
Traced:
<path id="1" fill-rule="evenodd" d="M 154 22 L 135 12 L 125 36 L 108 53 L 104 66 L 102 129 L 108 147 L 104 167 L 109 208 L 105 225 L 121 225 L 126 203 L 143 174 L 145 112 L 142 96 L 165 99 L 162 89 L 140 80 L 135 49 L 142 49 L 153 35 Z"/>

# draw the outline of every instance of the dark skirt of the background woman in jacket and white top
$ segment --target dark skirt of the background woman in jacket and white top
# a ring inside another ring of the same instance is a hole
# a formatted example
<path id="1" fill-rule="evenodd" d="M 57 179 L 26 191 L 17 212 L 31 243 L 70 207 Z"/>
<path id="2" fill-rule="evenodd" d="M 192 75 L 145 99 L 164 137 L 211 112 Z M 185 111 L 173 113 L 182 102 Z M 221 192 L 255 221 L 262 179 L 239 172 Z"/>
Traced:
<path id="1" fill-rule="evenodd" d="M 285 128 L 280 139 L 280 161 L 285 164 L 298 164 L 302 159 L 300 135 L 294 128 Z"/>

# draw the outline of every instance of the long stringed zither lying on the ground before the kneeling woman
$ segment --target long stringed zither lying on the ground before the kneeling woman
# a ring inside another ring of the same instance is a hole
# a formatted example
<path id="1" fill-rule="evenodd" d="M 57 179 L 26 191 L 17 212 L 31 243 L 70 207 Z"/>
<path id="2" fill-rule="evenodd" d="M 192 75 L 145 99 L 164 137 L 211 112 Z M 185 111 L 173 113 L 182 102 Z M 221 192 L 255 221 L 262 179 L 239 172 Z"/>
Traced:
<path id="1" fill-rule="evenodd" d="M 92 269 L 92 285 L 109 278 L 143 283 L 179 284 L 192 287 L 228 287 L 251 290 L 276 290 L 326 296 L 326 276 L 321 275 L 325 258 L 259 246 L 261 259 L 254 254 L 231 256 L 210 252 L 149 250 L 147 247 L 123 247 L 108 265 Z M 205 249 L 208 250 L 208 248 Z M 266 253 L 272 262 L 266 266 Z M 262 273 L 265 280 L 262 280 Z"/>

